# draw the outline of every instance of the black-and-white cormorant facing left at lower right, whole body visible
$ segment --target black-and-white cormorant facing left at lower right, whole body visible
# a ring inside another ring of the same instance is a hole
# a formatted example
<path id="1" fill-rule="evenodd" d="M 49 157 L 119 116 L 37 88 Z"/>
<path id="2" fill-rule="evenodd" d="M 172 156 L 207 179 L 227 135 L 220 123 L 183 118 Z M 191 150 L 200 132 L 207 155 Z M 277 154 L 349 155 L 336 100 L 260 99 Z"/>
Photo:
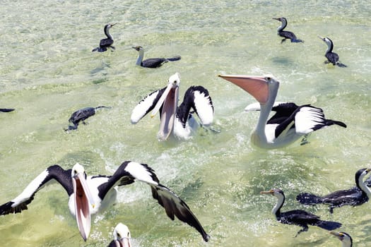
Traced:
<path id="1" fill-rule="evenodd" d="M 334 230 L 338 227 L 341 227 L 341 223 L 338 222 L 328 222 L 319 219 L 319 216 L 313 215 L 310 212 L 304 210 L 290 210 L 287 212 L 281 212 L 281 207 L 285 203 L 285 195 L 283 191 L 278 188 L 273 188 L 270 191 L 261 191 L 261 194 L 274 195 L 278 199 L 276 206 L 273 207 L 273 215 L 276 215 L 278 222 L 282 224 L 296 224 L 302 229 L 298 231 L 300 234 L 302 231 L 308 231 L 308 224 L 311 226 L 321 227 L 326 230 Z M 298 236 L 296 234 L 296 236 Z"/>

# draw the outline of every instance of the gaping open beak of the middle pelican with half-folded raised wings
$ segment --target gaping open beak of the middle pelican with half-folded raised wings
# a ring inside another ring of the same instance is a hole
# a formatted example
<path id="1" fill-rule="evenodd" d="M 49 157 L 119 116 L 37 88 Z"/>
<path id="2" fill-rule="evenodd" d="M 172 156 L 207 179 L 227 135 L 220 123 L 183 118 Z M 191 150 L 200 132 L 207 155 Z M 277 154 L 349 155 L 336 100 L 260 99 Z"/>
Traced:
<path id="1" fill-rule="evenodd" d="M 166 140 L 172 129 L 174 128 L 175 114 L 177 112 L 177 103 L 178 103 L 179 87 L 175 86 L 172 83 L 167 85 L 167 88 L 161 95 L 160 100 L 153 108 L 151 112 L 151 117 L 155 116 L 157 112 L 163 107 L 161 112 L 161 123 L 160 130 L 158 131 L 158 138 L 160 140 Z"/>

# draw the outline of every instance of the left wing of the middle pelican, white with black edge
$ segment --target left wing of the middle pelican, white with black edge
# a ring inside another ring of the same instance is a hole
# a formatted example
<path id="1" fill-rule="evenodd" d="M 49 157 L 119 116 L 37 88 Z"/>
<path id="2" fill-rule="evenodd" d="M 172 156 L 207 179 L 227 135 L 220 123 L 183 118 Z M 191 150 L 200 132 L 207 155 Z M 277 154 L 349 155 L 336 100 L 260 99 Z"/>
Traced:
<path id="1" fill-rule="evenodd" d="M 143 116 L 146 116 L 148 112 L 151 112 L 155 105 L 157 104 L 158 100 L 160 100 L 161 95 L 166 88 L 155 90 L 147 95 L 141 102 L 139 102 L 136 107 L 134 107 L 133 112 L 131 112 L 131 123 L 135 124 L 138 123 Z M 160 109 L 160 114 L 162 112 L 162 107 Z"/>

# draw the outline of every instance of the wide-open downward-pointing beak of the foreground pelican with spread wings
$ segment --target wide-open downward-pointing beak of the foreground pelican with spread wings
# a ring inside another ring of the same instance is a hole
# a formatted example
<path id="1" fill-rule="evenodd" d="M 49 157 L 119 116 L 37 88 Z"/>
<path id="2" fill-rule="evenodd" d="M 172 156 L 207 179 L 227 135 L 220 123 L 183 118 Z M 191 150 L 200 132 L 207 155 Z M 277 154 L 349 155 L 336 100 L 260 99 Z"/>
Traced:
<path id="1" fill-rule="evenodd" d="M 73 193 L 75 199 L 75 215 L 78 230 L 86 241 L 90 234 L 90 203 L 94 208 L 94 200 L 86 183 L 85 174 L 78 173 L 72 177 Z"/>

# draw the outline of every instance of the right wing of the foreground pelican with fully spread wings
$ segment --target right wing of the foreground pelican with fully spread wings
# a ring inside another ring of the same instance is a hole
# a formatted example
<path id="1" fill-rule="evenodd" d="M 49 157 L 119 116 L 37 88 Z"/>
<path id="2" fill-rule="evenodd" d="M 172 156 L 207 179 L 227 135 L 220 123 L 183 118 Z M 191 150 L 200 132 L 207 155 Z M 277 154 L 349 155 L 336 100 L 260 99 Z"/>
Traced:
<path id="1" fill-rule="evenodd" d="M 206 231 L 189 209 L 188 205 L 174 192 L 170 191 L 169 188 L 161 185 L 153 169 L 148 167 L 147 164 L 139 164 L 130 161 L 122 163 L 107 183 L 103 183 L 99 186 L 100 198 L 104 198 L 105 194 L 110 191 L 111 188 L 120 185 L 123 181 L 127 184 L 127 181 L 132 182 L 135 179 L 151 186 L 153 198 L 158 200 L 158 203 L 165 208 L 166 215 L 170 217 L 170 219 L 174 220 L 176 216 L 182 222 L 189 224 L 199 231 L 204 241 L 208 241 L 210 236 L 206 234 Z"/>

